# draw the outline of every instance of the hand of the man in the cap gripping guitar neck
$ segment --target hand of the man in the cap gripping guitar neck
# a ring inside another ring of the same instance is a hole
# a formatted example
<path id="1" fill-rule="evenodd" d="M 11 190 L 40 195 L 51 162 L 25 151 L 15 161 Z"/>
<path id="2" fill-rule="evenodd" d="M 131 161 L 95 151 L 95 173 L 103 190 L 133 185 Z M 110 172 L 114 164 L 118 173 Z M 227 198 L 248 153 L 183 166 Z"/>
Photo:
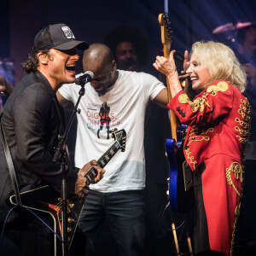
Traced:
<path id="1" fill-rule="evenodd" d="M 105 170 L 103 170 L 101 167 L 97 166 L 96 160 L 91 160 L 89 163 L 84 165 L 78 173 L 78 178 L 75 183 L 75 194 L 79 195 L 79 197 L 84 197 L 85 195 L 88 195 L 89 193 L 89 185 L 86 183 L 86 177 L 84 177 L 84 174 L 90 169 L 90 167 L 93 166 L 93 168 L 96 170 L 97 175 L 94 179 L 94 183 L 99 182 L 103 174 L 105 173 Z"/>

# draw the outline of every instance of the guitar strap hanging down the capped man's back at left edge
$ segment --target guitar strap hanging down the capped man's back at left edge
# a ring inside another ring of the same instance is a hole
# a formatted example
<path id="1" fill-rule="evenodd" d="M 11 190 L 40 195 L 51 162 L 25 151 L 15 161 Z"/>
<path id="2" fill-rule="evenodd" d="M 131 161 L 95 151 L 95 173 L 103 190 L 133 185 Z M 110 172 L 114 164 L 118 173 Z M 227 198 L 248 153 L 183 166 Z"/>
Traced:
<path id="1" fill-rule="evenodd" d="M 11 153 L 9 151 L 9 146 L 5 137 L 5 132 L 3 131 L 3 124 L 2 124 L 2 116 L 3 113 L 0 114 L 0 126 L 1 126 L 1 138 L 3 141 L 3 150 L 4 150 L 4 154 L 5 154 L 5 158 L 6 158 L 6 162 L 7 162 L 7 166 L 9 169 L 9 176 L 11 179 L 11 183 L 13 186 L 13 189 L 15 191 L 15 199 L 17 202 L 17 207 L 21 207 L 21 200 L 20 200 L 20 189 L 19 189 L 19 183 L 16 177 L 16 173 L 15 173 L 15 166 L 14 166 L 14 162 L 12 160 L 12 156 Z"/>

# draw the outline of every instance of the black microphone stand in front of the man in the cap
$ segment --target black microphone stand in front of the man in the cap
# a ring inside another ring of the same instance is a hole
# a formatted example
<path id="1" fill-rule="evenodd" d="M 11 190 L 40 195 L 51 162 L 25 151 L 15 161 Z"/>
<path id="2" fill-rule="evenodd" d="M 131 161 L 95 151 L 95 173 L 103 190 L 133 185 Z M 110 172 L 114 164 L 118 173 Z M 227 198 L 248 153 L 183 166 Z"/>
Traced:
<path id="1" fill-rule="evenodd" d="M 82 86 L 82 88 L 79 90 L 79 99 L 76 103 L 76 105 L 73 108 L 73 112 L 68 120 L 66 130 L 64 131 L 64 134 L 58 137 L 58 145 L 55 151 L 55 155 L 53 157 L 53 161 L 57 162 L 61 160 L 61 170 L 62 170 L 62 179 L 61 179 L 61 200 L 62 200 L 62 255 L 67 256 L 68 255 L 68 240 L 67 240 L 67 183 L 66 183 L 66 172 L 65 172 L 65 156 L 64 156 L 64 150 L 63 146 L 67 142 L 67 135 L 70 131 L 71 125 L 73 124 L 73 119 L 75 117 L 76 113 L 80 113 L 80 109 L 78 109 L 79 102 L 81 100 L 81 97 L 84 96 L 84 85 L 87 83 L 88 79 L 85 81 L 79 80 L 79 85 Z"/>

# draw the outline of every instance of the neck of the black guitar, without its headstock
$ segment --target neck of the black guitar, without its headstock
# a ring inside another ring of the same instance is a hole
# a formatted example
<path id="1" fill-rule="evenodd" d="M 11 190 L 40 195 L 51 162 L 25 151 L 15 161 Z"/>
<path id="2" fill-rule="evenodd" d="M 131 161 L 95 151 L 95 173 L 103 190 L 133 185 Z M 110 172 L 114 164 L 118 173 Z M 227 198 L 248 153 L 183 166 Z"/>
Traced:
<path id="1" fill-rule="evenodd" d="M 118 142 L 113 143 L 113 145 L 108 148 L 108 150 L 97 160 L 97 165 L 101 168 L 106 166 L 113 158 L 113 155 L 116 154 L 120 148 L 121 147 Z M 96 177 L 96 170 L 93 168 L 93 166 L 91 166 L 90 169 L 84 174 L 84 177 L 86 177 L 90 183 L 94 180 Z"/>

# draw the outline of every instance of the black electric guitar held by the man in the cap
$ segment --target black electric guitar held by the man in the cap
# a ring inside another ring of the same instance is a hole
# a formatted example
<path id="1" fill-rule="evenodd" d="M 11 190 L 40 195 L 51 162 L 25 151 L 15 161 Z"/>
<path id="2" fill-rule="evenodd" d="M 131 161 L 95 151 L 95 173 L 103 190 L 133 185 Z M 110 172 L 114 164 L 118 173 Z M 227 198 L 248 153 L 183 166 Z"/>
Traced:
<path id="1" fill-rule="evenodd" d="M 125 151 L 126 145 L 126 132 L 125 130 L 111 131 L 115 143 L 102 154 L 102 157 L 97 160 L 97 165 L 104 167 L 108 164 L 109 160 L 113 158 L 119 149 Z M 87 178 L 87 183 L 90 184 L 96 177 L 96 170 L 93 167 L 84 174 Z M 62 201 L 61 195 L 50 185 L 45 185 L 37 189 L 28 190 L 20 193 L 20 199 L 23 207 L 30 208 L 39 212 L 46 212 L 54 218 L 54 230 L 62 238 Z M 11 204 L 16 205 L 15 195 L 9 197 Z M 73 240 L 77 224 L 79 222 L 80 213 L 84 206 L 84 198 L 79 198 L 77 195 L 68 196 L 67 198 L 67 240 L 69 247 Z"/>

